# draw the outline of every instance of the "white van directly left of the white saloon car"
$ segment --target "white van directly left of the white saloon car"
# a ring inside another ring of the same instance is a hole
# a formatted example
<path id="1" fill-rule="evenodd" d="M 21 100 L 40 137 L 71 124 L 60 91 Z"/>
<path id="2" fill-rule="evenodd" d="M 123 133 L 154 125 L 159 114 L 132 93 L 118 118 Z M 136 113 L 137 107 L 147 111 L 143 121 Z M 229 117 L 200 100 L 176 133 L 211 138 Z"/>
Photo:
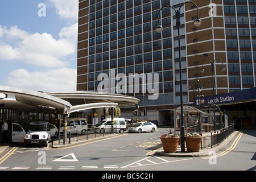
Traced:
<path id="1" fill-rule="evenodd" d="M 104 132 L 110 132 L 110 129 L 112 128 L 112 121 L 110 118 L 103 119 L 100 123 L 93 127 L 97 127 L 97 129 L 100 129 L 100 133 Z M 125 118 L 114 118 L 114 130 L 117 129 L 119 133 L 123 133 L 123 131 L 126 131 L 126 122 Z"/>

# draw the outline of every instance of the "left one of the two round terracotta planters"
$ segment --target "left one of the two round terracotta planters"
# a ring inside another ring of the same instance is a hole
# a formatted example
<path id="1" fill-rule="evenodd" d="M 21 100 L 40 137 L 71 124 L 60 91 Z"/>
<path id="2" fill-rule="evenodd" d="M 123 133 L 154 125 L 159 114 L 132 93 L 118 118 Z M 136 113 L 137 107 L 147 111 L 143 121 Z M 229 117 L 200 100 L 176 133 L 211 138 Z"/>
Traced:
<path id="1" fill-rule="evenodd" d="M 162 145 L 163 145 L 163 150 L 164 152 L 167 153 L 174 153 L 177 150 L 177 146 L 179 144 L 179 137 L 175 137 L 175 138 L 162 138 L 160 137 L 161 141 L 162 141 Z"/>

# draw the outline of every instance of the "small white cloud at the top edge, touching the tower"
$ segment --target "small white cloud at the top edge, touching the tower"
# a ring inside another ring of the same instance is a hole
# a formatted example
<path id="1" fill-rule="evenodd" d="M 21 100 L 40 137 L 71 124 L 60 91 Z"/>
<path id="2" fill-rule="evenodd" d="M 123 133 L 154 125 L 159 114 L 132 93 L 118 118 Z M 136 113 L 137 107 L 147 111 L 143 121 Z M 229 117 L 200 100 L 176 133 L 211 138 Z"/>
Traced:
<path id="1" fill-rule="evenodd" d="M 65 19 L 78 18 L 79 1 L 78 0 L 48 0 L 55 5 L 56 13 Z"/>

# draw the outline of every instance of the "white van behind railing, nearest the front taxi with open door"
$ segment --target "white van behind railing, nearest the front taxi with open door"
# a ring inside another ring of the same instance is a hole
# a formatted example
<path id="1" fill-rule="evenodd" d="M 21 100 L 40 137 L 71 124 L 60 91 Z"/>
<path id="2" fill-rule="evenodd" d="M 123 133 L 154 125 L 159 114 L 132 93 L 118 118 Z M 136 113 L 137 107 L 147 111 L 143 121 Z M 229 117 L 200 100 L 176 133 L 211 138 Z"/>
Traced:
<path id="1" fill-rule="evenodd" d="M 88 123 L 86 118 L 68 118 L 68 133 L 82 133 L 88 129 Z M 61 127 L 61 132 L 63 132 L 63 127 Z"/>

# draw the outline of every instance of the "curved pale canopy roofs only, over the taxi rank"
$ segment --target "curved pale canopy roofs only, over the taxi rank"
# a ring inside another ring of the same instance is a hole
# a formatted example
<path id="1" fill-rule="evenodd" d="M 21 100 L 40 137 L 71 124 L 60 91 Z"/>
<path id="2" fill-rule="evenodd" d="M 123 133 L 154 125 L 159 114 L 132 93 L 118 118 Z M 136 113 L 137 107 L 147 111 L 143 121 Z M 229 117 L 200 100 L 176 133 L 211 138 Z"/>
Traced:
<path id="1" fill-rule="evenodd" d="M 0 108 L 38 113 L 68 114 L 85 109 L 138 104 L 135 97 L 104 92 L 36 92 L 0 85 Z"/>

